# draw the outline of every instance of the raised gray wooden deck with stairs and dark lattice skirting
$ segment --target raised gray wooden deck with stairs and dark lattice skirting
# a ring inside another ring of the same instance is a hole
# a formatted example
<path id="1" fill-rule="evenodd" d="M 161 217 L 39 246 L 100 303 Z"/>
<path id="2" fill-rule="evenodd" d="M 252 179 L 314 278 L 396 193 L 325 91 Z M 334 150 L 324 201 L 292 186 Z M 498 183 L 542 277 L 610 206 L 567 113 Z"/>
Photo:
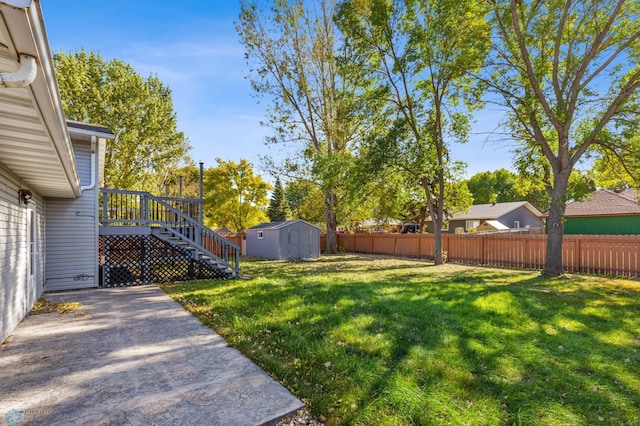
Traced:
<path id="1" fill-rule="evenodd" d="M 239 275 L 240 248 L 193 217 L 200 200 L 102 190 L 104 287 Z"/>

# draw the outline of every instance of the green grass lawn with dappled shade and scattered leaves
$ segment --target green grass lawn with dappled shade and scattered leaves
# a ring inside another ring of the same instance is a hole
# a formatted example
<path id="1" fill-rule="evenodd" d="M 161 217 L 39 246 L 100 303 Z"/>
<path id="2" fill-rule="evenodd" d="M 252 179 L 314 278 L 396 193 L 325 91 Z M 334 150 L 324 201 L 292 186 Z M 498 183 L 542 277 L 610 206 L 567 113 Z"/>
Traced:
<path id="1" fill-rule="evenodd" d="M 328 424 L 640 424 L 640 282 L 329 256 L 162 286 Z"/>

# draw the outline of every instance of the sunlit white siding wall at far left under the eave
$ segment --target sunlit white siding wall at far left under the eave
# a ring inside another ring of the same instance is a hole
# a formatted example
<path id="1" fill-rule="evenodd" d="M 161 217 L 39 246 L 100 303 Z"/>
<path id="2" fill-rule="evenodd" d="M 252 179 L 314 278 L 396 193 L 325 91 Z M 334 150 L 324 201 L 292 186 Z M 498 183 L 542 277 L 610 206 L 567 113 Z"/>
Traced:
<path id="1" fill-rule="evenodd" d="M 27 215 L 20 189 L 31 190 L 36 238 L 33 275 L 28 268 Z M 44 288 L 44 203 L 42 197 L 0 164 L 0 342 L 29 312 Z"/>

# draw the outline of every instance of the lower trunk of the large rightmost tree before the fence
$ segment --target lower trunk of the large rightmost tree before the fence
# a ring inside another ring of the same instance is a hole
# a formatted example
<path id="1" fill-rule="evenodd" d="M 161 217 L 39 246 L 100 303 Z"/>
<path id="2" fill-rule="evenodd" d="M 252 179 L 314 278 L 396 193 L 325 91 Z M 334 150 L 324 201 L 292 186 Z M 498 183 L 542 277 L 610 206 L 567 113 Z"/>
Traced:
<path id="1" fill-rule="evenodd" d="M 562 269 L 562 237 L 564 235 L 565 195 L 571 169 L 562 170 L 554 175 L 551 190 L 551 204 L 547 218 L 547 256 L 544 261 L 542 275 L 559 276 Z"/>

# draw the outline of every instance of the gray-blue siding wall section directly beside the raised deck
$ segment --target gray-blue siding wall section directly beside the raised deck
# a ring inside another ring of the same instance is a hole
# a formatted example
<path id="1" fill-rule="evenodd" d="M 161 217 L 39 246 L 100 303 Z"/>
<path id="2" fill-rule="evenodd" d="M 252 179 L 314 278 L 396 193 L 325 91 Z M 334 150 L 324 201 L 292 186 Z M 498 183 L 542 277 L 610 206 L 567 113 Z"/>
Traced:
<path id="1" fill-rule="evenodd" d="M 91 144 L 73 141 L 80 184 L 91 183 Z M 96 171 L 97 173 L 97 171 Z M 46 291 L 98 286 L 98 190 L 47 198 Z"/>

